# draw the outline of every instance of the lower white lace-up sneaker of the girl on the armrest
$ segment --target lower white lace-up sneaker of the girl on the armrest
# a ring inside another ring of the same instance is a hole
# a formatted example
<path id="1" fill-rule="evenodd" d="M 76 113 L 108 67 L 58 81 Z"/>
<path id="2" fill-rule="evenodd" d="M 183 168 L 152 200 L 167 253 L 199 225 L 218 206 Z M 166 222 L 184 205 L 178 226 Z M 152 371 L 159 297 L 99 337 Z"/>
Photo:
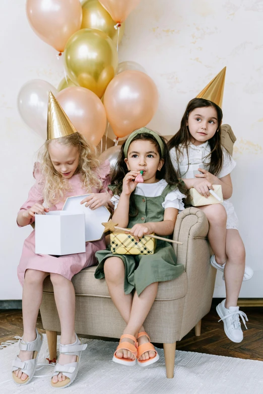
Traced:
<path id="1" fill-rule="evenodd" d="M 217 305 L 217 313 L 221 320 L 224 323 L 224 330 L 226 333 L 226 336 L 232 341 L 232 342 L 242 342 L 243 341 L 243 332 L 241 330 L 241 325 L 239 321 L 239 317 L 241 316 L 242 322 L 246 327 L 246 322 L 248 322 L 248 319 L 246 317 L 246 314 L 239 310 L 239 306 L 229 306 L 229 308 L 225 307 L 225 299 L 223 299 L 220 304 Z M 245 319 L 244 319 L 245 318 Z"/>

